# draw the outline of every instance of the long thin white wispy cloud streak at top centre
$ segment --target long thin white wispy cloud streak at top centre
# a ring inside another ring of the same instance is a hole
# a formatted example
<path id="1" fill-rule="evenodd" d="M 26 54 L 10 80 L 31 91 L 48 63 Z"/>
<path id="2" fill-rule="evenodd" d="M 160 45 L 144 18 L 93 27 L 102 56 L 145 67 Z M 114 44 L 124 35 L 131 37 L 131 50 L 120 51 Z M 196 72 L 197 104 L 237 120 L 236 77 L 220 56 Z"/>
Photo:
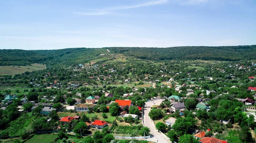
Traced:
<path id="1" fill-rule="evenodd" d="M 145 6 L 154 6 L 154 5 L 160 5 L 163 3 L 167 3 L 169 0 L 154 0 L 149 1 L 146 3 L 140 3 L 137 5 L 130 5 L 130 6 L 115 6 L 115 7 L 108 7 L 96 10 L 96 12 L 73 12 L 73 14 L 79 14 L 79 15 L 105 15 L 111 13 L 110 11 L 114 10 L 123 10 L 123 9 L 132 9 L 132 8 L 140 8 Z"/>

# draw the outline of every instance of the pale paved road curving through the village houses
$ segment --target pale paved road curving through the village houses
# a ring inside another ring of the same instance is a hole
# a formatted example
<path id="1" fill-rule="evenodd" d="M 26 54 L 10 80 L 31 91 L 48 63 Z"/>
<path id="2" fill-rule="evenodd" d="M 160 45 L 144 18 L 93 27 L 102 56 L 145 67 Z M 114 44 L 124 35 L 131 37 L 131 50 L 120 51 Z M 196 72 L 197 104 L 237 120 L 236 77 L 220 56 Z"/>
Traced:
<path id="1" fill-rule="evenodd" d="M 171 143 L 171 141 L 167 137 L 165 137 L 164 135 L 162 135 L 160 132 L 157 131 L 156 126 L 154 125 L 154 122 L 148 116 L 148 113 L 150 112 L 151 107 L 154 104 L 160 105 L 162 101 L 163 99 L 158 99 L 158 100 L 155 100 L 154 102 L 148 101 L 145 103 L 145 107 L 143 109 L 144 110 L 143 121 L 144 121 L 144 125 L 150 129 L 150 134 L 153 136 L 146 140 L 153 141 L 153 142 L 157 142 L 158 140 L 158 143 Z"/>

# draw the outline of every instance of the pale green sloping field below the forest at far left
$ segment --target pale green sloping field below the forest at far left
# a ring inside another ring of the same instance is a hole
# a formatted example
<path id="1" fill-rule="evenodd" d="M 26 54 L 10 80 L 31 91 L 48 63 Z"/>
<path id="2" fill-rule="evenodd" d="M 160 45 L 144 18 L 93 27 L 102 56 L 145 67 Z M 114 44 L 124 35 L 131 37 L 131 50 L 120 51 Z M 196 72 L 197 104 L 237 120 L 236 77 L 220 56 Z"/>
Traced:
<path id="1" fill-rule="evenodd" d="M 0 66 L 0 75 L 15 75 L 26 71 L 46 69 L 44 64 L 31 64 L 27 66 Z"/>

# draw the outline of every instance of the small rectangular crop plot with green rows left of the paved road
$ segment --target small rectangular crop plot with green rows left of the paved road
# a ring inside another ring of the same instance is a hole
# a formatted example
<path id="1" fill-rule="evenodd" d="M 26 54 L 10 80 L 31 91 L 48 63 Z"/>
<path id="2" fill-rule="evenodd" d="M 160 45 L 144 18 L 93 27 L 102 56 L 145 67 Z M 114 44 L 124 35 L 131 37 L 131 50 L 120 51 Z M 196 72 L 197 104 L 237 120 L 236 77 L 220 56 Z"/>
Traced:
<path id="1" fill-rule="evenodd" d="M 116 134 L 138 134 L 140 126 L 117 126 L 114 130 Z"/>

